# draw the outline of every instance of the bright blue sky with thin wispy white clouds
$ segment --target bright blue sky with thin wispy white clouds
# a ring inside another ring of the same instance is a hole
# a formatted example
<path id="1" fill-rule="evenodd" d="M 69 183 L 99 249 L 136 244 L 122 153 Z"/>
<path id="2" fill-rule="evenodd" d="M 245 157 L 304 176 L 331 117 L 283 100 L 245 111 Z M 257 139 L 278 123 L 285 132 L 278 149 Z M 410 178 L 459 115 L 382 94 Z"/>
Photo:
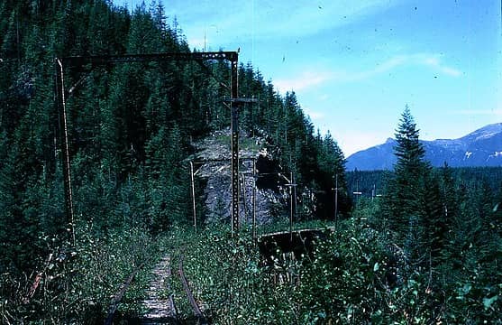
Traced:
<path id="1" fill-rule="evenodd" d="M 500 0 L 160 1 L 191 48 L 241 48 L 294 90 L 345 156 L 394 136 L 406 104 L 425 140 L 502 122 Z"/>

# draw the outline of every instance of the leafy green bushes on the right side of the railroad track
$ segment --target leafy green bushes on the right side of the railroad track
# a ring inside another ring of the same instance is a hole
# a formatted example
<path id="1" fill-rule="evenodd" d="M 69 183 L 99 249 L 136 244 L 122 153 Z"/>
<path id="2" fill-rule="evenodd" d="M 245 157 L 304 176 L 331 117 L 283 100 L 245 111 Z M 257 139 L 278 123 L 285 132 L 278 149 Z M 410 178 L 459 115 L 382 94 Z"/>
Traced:
<path id="1" fill-rule="evenodd" d="M 285 262 L 278 252 L 274 265 L 261 263 L 251 234 L 229 233 L 209 228 L 184 244 L 185 272 L 214 324 L 501 321 L 499 271 L 443 273 L 443 284 L 433 285 L 430 270 L 406 265 L 400 248 L 361 216 L 326 232 L 312 258 Z"/>

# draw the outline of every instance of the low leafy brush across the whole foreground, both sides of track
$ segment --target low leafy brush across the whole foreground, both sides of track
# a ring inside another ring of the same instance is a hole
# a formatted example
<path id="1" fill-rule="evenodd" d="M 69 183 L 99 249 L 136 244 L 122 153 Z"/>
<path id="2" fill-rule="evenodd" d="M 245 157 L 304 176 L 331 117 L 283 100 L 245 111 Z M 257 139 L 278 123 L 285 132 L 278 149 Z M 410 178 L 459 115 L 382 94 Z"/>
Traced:
<path id="1" fill-rule="evenodd" d="M 501 323 L 501 274 L 490 262 L 451 274 L 414 269 L 388 233 L 371 227 L 376 211 L 370 203 L 361 204 L 353 218 L 317 239 L 312 255 L 295 260 L 278 251 L 271 265 L 264 263 L 251 232 L 233 238 L 226 225 L 197 235 L 171 228 L 157 238 L 140 228 L 105 238 L 87 232 L 77 254 L 47 267 L 28 302 L 22 301 L 23 290 L 33 278 L 17 284 L 19 295 L 11 295 L 17 299 L 2 302 L 2 321 L 102 323 L 114 293 L 144 264 L 117 311 L 117 319 L 137 320 L 145 312 L 141 300 L 151 267 L 169 255 L 171 292 L 160 295 L 174 294 L 180 320 L 194 320 L 176 272 L 183 258 L 196 302 L 213 324 Z M 441 279 L 431 278 L 438 274 Z M 2 292 L 13 290 L 14 283 L 2 274 Z"/>

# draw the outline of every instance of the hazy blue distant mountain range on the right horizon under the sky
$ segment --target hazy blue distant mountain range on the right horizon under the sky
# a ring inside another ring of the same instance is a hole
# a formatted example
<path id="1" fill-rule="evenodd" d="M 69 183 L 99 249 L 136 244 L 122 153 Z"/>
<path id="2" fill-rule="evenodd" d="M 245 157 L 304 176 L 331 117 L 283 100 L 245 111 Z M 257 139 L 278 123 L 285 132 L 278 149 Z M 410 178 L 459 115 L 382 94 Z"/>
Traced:
<path id="1" fill-rule="evenodd" d="M 424 144 L 425 159 L 433 166 L 451 167 L 502 166 L 502 123 L 486 125 L 459 139 L 420 141 Z M 396 140 L 351 154 L 347 171 L 392 170 L 396 163 Z"/>

